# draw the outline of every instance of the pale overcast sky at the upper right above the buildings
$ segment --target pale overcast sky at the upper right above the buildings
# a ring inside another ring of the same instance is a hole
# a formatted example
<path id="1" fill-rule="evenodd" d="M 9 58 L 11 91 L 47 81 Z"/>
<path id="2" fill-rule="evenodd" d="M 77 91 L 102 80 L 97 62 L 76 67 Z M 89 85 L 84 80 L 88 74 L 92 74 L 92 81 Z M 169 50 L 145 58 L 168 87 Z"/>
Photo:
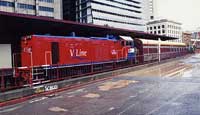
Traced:
<path id="1" fill-rule="evenodd" d="M 200 27 L 200 0 L 156 0 L 155 15 L 183 23 L 184 30 Z"/>

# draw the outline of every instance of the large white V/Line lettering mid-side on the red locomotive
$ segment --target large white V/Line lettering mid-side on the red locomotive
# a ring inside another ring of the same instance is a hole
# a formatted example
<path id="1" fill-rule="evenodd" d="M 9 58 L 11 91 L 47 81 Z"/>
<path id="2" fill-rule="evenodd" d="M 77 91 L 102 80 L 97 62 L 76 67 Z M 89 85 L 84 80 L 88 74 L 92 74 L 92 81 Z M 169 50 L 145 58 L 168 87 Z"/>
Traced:
<path id="1" fill-rule="evenodd" d="M 87 56 L 87 51 L 82 51 L 81 49 L 70 49 L 71 57 L 84 57 Z"/>

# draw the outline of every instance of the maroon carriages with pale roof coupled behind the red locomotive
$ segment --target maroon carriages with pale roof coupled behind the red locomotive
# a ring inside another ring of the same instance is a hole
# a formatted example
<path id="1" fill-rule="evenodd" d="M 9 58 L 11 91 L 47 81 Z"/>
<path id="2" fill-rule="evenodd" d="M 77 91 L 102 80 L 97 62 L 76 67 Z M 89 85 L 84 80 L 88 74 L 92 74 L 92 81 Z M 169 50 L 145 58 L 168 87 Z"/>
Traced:
<path id="1" fill-rule="evenodd" d="M 187 53 L 187 46 L 185 43 L 176 43 L 169 41 L 156 41 L 146 39 L 134 39 L 137 62 L 151 62 L 159 59 L 169 59 L 182 56 Z M 160 53 L 159 53 L 160 44 Z"/>

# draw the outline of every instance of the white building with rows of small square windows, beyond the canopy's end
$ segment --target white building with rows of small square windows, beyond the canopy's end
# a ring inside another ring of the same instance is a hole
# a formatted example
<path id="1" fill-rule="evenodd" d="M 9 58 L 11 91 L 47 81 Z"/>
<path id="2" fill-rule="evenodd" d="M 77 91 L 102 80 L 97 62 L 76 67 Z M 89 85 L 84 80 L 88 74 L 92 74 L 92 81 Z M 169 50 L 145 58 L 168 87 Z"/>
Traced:
<path id="1" fill-rule="evenodd" d="M 179 38 L 173 40 L 175 42 L 182 42 L 182 24 L 179 22 L 161 19 L 152 20 L 147 23 L 147 32 L 151 34 L 165 35 L 169 37 Z"/>

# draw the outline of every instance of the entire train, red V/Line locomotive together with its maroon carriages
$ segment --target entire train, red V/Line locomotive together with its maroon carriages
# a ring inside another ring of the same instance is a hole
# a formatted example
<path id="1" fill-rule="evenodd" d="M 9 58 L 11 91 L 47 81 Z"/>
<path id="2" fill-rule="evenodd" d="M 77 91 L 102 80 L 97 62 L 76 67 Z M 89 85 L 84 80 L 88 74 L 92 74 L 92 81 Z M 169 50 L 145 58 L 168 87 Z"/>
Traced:
<path id="1" fill-rule="evenodd" d="M 15 73 L 29 83 L 42 83 L 173 58 L 186 52 L 183 43 L 127 36 L 31 35 L 21 40 L 21 67 Z"/>

